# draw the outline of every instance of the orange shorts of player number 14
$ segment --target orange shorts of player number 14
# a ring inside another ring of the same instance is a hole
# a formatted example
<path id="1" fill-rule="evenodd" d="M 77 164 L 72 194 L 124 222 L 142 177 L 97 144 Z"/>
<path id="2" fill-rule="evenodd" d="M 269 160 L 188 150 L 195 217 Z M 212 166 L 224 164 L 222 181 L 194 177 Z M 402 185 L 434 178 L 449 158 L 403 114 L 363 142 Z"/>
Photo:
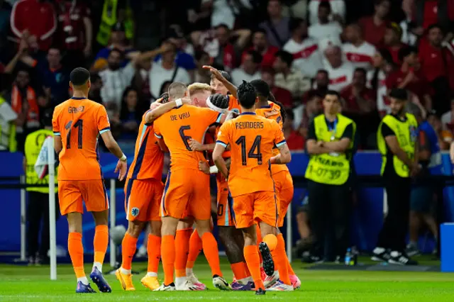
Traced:
<path id="1" fill-rule="evenodd" d="M 277 198 L 273 191 L 258 191 L 233 197 L 236 228 L 249 228 L 255 222 L 277 226 Z"/>

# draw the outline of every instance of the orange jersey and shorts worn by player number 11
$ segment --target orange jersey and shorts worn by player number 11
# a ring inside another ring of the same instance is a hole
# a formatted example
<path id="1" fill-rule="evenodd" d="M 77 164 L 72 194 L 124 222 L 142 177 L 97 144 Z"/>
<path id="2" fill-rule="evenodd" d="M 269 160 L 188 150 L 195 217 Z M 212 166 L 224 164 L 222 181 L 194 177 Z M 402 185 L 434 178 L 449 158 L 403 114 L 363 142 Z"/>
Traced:
<path id="1" fill-rule="evenodd" d="M 83 101 L 83 102 L 81 102 Z M 58 200 L 62 215 L 104 211 L 109 201 L 97 153 L 98 136 L 110 130 L 106 108 L 84 98 L 72 98 L 55 107 L 52 117 L 62 151 L 58 167 Z"/>

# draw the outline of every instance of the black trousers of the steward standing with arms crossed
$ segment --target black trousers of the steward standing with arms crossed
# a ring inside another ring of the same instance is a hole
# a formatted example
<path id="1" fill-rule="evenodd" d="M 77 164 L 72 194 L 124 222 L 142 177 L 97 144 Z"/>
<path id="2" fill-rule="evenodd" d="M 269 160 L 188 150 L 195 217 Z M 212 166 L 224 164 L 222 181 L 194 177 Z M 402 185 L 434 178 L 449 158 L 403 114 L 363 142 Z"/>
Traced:
<path id="1" fill-rule="evenodd" d="M 343 257 L 350 243 L 351 201 L 348 184 L 335 186 L 309 180 L 307 189 L 309 220 L 314 235 L 311 255 L 323 258 L 326 238 L 333 234 L 332 252 L 335 256 Z"/>

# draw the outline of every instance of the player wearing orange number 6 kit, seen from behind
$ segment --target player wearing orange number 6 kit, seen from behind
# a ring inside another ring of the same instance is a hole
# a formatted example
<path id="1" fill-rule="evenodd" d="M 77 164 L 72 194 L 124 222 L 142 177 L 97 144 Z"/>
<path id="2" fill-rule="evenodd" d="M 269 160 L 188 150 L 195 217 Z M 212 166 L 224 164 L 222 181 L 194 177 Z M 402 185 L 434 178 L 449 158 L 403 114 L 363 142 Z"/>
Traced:
<path id="1" fill-rule="evenodd" d="M 169 99 L 188 96 L 187 86 L 172 83 Z M 189 147 L 189 140 L 203 140 L 209 125 L 222 123 L 226 115 L 209 108 L 183 105 L 165 113 L 154 123 L 155 135 L 162 148 L 170 150 L 171 166 L 161 203 L 162 242 L 161 257 L 165 279 L 157 291 L 174 291 L 175 233 L 179 219 L 187 210 L 196 220 L 196 228 L 201 236 L 204 253 L 211 267 L 213 284 L 218 289 L 228 289 L 219 265 L 218 244 L 211 234 L 211 198 L 209 175 L 199 171 L 199 161 L 204 160 L 201 152 Z M 182 290 L 193 290 L 194 284 L 187 281 L 186 272 L 176 272 L 181 277 Z"/>

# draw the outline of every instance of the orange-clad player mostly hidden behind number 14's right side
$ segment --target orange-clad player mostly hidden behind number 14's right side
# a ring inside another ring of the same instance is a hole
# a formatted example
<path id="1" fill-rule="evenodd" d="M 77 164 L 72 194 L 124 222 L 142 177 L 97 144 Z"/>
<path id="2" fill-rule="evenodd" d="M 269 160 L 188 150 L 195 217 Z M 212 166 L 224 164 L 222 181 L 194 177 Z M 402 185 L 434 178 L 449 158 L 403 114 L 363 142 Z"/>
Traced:
<path id="1" fill-rule="evenodd" d="M 257 113 L 258 116 L 263 116 L 265 118 L 271 118 L 275 120 L 282 130 L 282 125 L 286 117 L 284 106 L 282 106 L 282 104 L 279 104 L 277 101 L 275 101 L 274 103 L 268 101 L 271 96 L 271 91 L 270 86 L 268 86 L 266 82 L 262 81 L 261 79 L 255 79 L 251 81 L 250 84 L 253 85 L 258 97 L 255 113 Z M 275 155 L 277 154 L 279 154 L 279 151 L 275 149 Z M 285 215 L 287 214 L 287 208 L 289 207 L 289 204 L 293 199 L 293 179 L 292 175 L 290 175 L 289 169 L 285 164 L 272 164 L 271 174 L 273 180 L 275 181 L 275 189 L 279 201 L 279 221 L 277 223 L 277 226 L 278 228 L 282 228 L 282 226 L 284 225 Z M 280 233 L 280 231 L 277 235 L 277 239 L 282 240 L 282 242 L 284 241 L 284 237 L 282 236 L 282 233 Z M 282 276 L 281 279 L 285 279 L 287 281 L 288 275 L 289 281 L 292 283 L 292 286 L 294 286 L 294 289 L 296 289 L 301 286 L 301 281 L 299 281 L 298 276 L 294 273 L 287 255 L 285 255 L 285 260 L 287 262 L 287 269 L 285 269 L 285 267 L 279 269 L 279 272 L 284 271 L 284 276 Z M 275 272 L 273 276 L 267 276 L 264 281 L 265 286 L 272 286 L 275 283 L 275 280 L 278 279 L 278 276 L 278 272 Z"/>

